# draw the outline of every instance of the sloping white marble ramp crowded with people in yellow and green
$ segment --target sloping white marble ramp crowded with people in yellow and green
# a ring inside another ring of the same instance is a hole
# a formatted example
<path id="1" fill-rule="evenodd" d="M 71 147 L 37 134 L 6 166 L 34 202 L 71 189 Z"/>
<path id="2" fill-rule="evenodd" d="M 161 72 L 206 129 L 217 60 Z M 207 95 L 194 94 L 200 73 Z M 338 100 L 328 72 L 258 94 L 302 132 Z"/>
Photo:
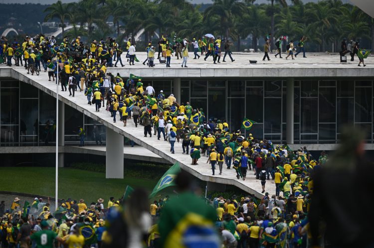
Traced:
<path id="1" fill-rule="evenodd" d="M 56 97 L 56 84 L 48 81 L 47 73 L 40 72 L 39 76 L 31 76 L 26 74 L 26 70 L 23 67 L 9 68 L 0 66 L 0 77 L 11 77 L 13 79 L 32 84 L 44 92 Z M 191 158 L 189 155 L 182 154 L 183 151 L 181 143 L 176 143 L 175 154 L 171 154 L 170 144 L 168 142 L 165 142 L 163 138 L 158 140 L 156 136 L 152 136 L 152 138 L 144 137 L 143 127 L 138 125 L 136 128 L 134 122 L 132 121 L 133 119 L 128 120 L 127 126 L 124 127 L 123 123 L 120 121 L 113 123 L 110 113 L 105 111 L 105 109 L 102 108 L 100 112 L 96 112 L 94 105 L 87 104 L 87 97 L 84 95 L 83 91 L 77 91 L 75 97 L 72 97 L 69 96 L 68 91 L 61 91 L 59 89 L 59 100 L 77 109 L 78 111 L 83 112 L 100 123 L 103 123 L 106 127 L 113 129 L 115 132 L 134 140 L 135 143 L 150 150 L 170 163 L 174 164 L 179 162 L 182 169 L 201 180 L 235 185 L 248 193 L 254 194 L 256 197 L 262 197 L 261 183 L 259 180 L 255 179 L 252 170 L 248 171 L 247 179 L 245 181 L 236 179 L 235 170 L 232 168 L 227 169 L 225 168 L 225 165 L 223 166 L 224 168 L 222 175 L 218 175 L 218 169 L 216 167 L 215 175 L 212 176 L 211 166 L 206 164 L 206 157 L 202 156 L 198 161 L 198 165 L 190 165 Z M 119 116 L 117 115 L 117 120 L 118 119 Z M 275 193 L 274 181 L 267 181 L 265 189 L 270 194 Z"/>

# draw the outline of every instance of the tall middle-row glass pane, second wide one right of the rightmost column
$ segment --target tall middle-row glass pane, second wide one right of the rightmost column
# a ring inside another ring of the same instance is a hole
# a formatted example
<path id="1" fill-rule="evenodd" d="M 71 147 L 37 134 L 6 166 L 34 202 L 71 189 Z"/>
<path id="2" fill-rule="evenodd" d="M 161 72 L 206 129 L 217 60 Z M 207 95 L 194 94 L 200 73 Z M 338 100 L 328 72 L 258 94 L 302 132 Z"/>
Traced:
<path id="1" fill-rule="evenodd" d="M 336 88 L 320 87 L 319 94 L 319 122 L 335 122 Z"/>

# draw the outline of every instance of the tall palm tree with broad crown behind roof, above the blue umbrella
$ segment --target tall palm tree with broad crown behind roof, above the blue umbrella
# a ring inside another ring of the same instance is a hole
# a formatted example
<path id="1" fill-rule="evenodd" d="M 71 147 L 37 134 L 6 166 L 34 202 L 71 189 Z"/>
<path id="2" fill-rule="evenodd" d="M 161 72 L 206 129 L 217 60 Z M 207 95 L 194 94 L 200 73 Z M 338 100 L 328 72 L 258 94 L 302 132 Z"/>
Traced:
<path id="1" fill-rule="evenodd" d="M 245 4 L 239 0 L 213 0 L 213 4 L 204 11 L 204 19 L 211 15 L 220 16 L 222 32 L 228 38 L 234 16 L 242 16 L 246 10 Z"/>

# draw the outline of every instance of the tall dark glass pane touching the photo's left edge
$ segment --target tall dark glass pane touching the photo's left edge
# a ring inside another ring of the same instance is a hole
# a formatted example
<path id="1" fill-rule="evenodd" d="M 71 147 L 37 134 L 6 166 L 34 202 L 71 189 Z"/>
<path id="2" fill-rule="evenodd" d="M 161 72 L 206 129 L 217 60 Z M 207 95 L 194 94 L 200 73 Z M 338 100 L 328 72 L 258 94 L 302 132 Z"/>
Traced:
<path id="1" fill-rule="evenodd" d="M 18 90 L 18 88 L 1 89 L 1 124 L 18 124 Z"/>

